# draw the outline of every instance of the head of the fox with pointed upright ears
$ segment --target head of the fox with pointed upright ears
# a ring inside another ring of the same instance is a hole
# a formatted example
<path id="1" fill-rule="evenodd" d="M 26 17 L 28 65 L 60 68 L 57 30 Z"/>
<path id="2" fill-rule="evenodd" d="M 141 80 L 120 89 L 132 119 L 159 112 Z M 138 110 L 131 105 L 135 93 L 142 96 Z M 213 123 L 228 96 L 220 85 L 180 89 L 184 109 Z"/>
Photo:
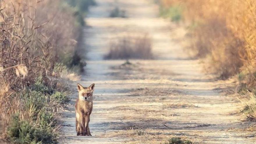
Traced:
<path id="1" fill-rule="evenodd" d="M 86 102 L 92 102 L 93 101 L 94 85 L 95 84 L 93 83 L 88 88 L 86 88 L 86 87 L 83 87 L 81 84 L 77 83 L 79 100 L 83 100 Z"/>

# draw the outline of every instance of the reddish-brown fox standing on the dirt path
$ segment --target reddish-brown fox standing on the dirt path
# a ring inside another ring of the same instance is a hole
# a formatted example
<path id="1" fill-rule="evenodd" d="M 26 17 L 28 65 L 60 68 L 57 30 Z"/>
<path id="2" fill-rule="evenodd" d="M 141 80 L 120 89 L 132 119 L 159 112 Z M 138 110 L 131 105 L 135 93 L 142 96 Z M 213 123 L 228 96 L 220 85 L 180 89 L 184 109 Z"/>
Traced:
<path id="1" fill-rule="evenodd" d="M 93 111 L 93 91 L 95 84 L 88 88 L 77 83 L 78 98 L 75 104 L 77 136 L 92 136 L 89 129 L 90 114 Z"/>

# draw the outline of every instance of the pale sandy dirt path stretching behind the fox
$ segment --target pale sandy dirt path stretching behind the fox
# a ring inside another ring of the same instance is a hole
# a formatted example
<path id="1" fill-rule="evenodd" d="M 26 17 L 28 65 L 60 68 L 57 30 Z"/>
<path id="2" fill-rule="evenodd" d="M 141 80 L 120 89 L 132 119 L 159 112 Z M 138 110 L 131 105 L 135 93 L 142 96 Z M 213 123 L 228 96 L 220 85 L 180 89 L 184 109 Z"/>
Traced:
<path id="1" fill-rule="evenodd" d="M 128 18 L 109 18 L 115 6 Z M 180 42 L 170 39 L 182 38 L 185 31 L 175 33 L 175 26 L 157 12 L 157 5 L 146 0 L 98 0 L 90 9 L 84 29 L 89 60 L 79 83 L 95 83 L 93 136 L 75 136 L 74 95 L 64 112 L 62 142 L 163 143 L 185 136 L 200 143 L 253 143 L 250 134 L 237 130 L 247 125 L 238 114 L 240 103 L 221 93 L 231 82 L 214 80 L 198 60 L 188 60 Z M 111 41 L 143 33 L 152 38 L 156 60 L 133 60 L 134 65 L 121 68 L 124 61 L 102 60 Z"/>

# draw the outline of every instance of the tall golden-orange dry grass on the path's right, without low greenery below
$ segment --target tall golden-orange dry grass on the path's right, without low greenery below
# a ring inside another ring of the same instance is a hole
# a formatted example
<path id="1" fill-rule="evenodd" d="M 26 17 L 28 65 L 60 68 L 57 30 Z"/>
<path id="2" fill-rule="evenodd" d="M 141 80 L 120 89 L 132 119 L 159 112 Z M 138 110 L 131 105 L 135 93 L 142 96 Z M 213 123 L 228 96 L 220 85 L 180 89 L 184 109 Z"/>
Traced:
<path id="1" fill-rule="evenodd" d="M 200 57 L 210 55 L 210 67 L 222 78 L 255 66 L 254 0 L 162 0 L 162 5 L 184 7 L 192 50 Z"/>

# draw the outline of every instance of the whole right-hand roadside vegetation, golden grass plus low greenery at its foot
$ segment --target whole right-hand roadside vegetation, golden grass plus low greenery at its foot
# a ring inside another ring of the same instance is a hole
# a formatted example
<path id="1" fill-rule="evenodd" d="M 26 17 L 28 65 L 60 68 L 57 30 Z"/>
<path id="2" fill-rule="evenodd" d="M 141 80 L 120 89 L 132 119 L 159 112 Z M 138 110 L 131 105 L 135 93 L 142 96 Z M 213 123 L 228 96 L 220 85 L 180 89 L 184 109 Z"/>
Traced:
<path id="1" fill-rule="evenodd" d="M 160 5 L 161 15 L 183 21 L 189 50 L 209 60 L 210 72 L 220 79 L 238 77 L 237 92 L 247 101 L 243 112 L 255 119 L 256 1 L 161 0 Z"/>

